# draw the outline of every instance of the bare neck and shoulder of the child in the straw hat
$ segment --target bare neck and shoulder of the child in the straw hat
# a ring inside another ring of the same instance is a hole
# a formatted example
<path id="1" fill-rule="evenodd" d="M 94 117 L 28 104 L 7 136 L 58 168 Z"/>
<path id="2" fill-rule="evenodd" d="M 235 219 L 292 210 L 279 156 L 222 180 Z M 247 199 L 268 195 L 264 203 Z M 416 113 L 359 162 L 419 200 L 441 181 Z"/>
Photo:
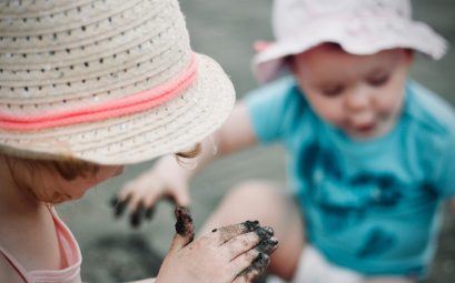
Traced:
<path id="1" fill-rule="evenodd" d="M 66 267 L 68 263 L 47 204 L 14 182 L 1 155 L 0 180 L 0 246 L 26 270 Z"/>

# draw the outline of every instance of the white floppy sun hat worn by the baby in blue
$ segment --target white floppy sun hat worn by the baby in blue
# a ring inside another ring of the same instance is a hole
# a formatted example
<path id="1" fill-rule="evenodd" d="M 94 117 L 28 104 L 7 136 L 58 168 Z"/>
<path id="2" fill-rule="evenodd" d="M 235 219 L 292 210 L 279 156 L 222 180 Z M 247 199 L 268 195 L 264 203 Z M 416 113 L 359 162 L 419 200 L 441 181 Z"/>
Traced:
<path id="1" fill-rule="evenodd" d="M 409 0 L 275 0 L 273 30 L 276 41 L 254 58 L 259 82 L 286 73 L 287 55 L 323 42 L 359 55 L 409 48 L 439 59 L 446 51 L 441 36 L 412 20 Z"/>

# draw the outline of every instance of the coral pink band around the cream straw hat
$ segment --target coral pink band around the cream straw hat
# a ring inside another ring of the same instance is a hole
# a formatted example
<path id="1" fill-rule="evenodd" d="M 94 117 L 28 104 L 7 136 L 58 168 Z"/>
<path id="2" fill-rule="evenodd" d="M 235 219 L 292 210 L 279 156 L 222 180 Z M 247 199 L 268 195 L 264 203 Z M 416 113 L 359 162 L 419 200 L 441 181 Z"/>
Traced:
<path id="1" fill-rule="evenodd" d="M 149 110 L 171 100 L 197 78 L 197 57 L 177 78 L 156 88 L 102 104 L 41 115 L 9 115 L 0 113 L 0 129 L 31 131 L 87 123 Z"/>

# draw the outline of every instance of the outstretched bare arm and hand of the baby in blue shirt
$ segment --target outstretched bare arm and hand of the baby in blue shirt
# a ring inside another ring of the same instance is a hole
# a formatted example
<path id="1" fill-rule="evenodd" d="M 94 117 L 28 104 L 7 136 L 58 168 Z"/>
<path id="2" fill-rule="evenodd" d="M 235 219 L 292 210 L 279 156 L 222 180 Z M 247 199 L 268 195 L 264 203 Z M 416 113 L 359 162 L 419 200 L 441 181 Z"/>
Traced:
<path id="1" fill-rule="evenodd" d="M 256 143 L 248 109 L 238 102 L 227 122 L 214 134 L 201 141 L 201 153 L 185 168 L 174 155 L 159 159 L 155 165 L 128 182 L 119 192 L 120 201 L 128 202 L 130 211 L 150 210 L 162 196 L 170 196 L 177 204 L 189 205 L 188 183 L 191 178 L 215 159 Z M 118 205 L 120 209 L 123 205 Z"/>

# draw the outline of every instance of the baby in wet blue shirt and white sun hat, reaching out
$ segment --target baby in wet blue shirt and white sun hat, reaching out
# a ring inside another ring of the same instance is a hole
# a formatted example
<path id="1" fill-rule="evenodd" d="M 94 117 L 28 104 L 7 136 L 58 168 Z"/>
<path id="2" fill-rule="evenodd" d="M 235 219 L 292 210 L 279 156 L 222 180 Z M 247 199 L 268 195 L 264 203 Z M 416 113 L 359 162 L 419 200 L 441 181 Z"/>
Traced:
<path id="1" fill-rule="evenodd" d="M 408 72 L 415 51 L 439 59 L 445 41 L 411 19 L 407 0 L 276 0 L 273 20 L 276 41 L 254 60 L 266 84 L 236 105 L 214 134 L 218 154 L 202 153 L 197 169 L 281 142 L 289 192 L 239 184 L 205 231 L 245 216 L 274 226 L 269 271 L 293 282 L 425 276 L 439 209 L 455 195 L 455 114 Z M 188 204 L 195 172 L 162 158 L 119 196 L 131 208 L 162 194 Z"/>

